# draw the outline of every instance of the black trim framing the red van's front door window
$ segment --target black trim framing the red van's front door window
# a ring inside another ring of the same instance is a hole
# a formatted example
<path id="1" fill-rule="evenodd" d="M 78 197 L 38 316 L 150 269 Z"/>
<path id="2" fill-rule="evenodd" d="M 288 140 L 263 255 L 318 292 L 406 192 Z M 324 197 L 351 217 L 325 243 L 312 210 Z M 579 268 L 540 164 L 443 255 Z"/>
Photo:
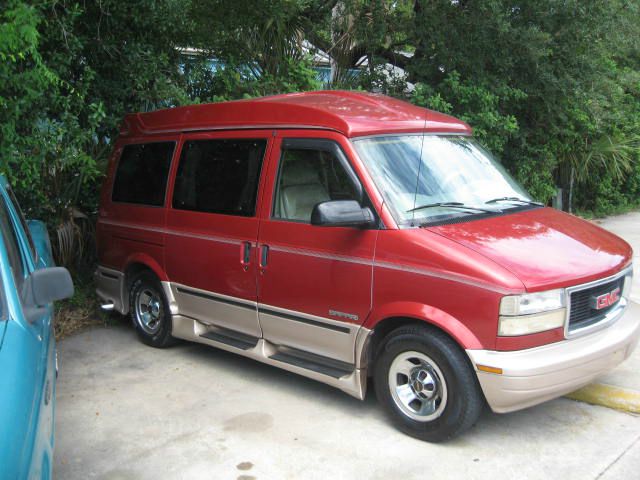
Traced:
<path id="1" fill-rule="evenodd" d="M 358 174 L 354 170 L 351 162 L 349 161 L 349 157 L 342 149 L 342 146 L 336 141 L 329 138 L 315 138 L 315 137 L 284 137 L 280 142 L 280 154 L 278 156 L 278 170 L 275 176 L 275 183 L 273 185 L 273 196 L 271 199 L 271 208 L 269 212 L 269 220 L 275 222 L 287 222 L 287 223 L 296 223 L 300 225 L 311 225 L 310 222 L 305 222 L 303 220 L 293 220 L 288 218 L 276 217 L 276 203 L 278 201 L 278 193 L 280 189 L 280 177 L 282 175 L 282 164 L 284 152 L 286 149 L 297 149 L 297 150 L 320 150 L 323 152 L 332 153 L 338 159 L 342 167 L 344 168 L 347 176 L 351 180 L 353 186 L 356 188 L 358 196 L 358 202 L 360 205 L 368 206 L 376 219 L 376 225 L 379 227 L 380 217 L 378 212 L 373 206 L 373 202 L 369 198 L 367 191 L 364 188 L 364 184 Z M 333 228 L 333 227 L 332 227 Z"/>

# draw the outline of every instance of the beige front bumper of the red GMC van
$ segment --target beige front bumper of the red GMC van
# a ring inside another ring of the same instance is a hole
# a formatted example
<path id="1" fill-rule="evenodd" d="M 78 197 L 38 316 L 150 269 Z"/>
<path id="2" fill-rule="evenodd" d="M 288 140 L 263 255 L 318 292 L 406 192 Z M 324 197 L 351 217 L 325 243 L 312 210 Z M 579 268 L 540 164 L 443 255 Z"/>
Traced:
<path id="1" fill-rule="evenodd" d="M 577 390 L 627 359 L 640 338 L 640 305 L 621 305 L 607 328 L 579 338 L 515 352 L 467 350 L 482 391 L 494 412 L 505 413 L 542 403 Z"/>

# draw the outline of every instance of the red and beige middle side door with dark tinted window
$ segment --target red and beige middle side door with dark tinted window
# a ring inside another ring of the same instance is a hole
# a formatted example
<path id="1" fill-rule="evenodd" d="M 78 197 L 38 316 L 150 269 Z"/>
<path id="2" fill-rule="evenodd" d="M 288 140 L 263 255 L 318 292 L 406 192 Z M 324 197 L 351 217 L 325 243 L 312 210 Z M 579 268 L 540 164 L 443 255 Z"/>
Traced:
<path id="1" fill-rule="evenodd" d="M 256 208 L 270 134 L 185 135 L 167 211 L 166 268 L 179 315 L 207 326 L 196 334 L 242 348 L 261 337 Z"/>

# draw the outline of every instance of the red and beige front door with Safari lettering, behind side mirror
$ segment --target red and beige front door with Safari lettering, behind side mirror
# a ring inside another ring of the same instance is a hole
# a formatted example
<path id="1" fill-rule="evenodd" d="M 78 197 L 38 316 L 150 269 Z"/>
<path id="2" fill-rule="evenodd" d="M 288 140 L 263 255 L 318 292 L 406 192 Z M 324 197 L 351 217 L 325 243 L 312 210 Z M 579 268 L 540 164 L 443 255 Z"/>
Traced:
<path id="1" fill-rule="evenodd" d="M 371 309 L 377 231 L 310 224 L 318 203 L 367 201 L 340 136 L 309 138 L 319 134 L 275 139 L 261 211 L 258 312 L 276 358 L 348 371 Z"/>

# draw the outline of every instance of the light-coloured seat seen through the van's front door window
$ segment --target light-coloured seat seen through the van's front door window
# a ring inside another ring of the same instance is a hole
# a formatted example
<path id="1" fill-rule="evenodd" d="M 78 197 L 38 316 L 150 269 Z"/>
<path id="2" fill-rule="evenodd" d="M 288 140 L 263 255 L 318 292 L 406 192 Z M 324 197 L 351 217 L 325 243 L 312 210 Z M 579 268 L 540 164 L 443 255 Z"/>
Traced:
<path id="1" fill-rule="evenodd" d="M 320 180 L 318 167 L 318 162 L 307 159 L 285 164 L 280 184 L 280 213 L 283 218 L 309 222 L 313 207 L 331 200 Z"/>

